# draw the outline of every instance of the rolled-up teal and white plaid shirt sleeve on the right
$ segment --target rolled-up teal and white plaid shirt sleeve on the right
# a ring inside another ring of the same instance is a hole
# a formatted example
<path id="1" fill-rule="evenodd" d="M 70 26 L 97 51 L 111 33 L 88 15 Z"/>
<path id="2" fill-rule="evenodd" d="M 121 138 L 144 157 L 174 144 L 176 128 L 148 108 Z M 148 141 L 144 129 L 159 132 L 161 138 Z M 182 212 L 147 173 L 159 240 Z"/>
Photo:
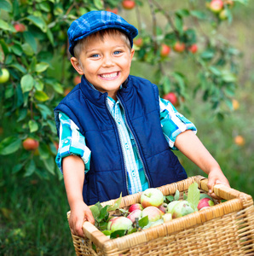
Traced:
<path id="1" fill-rule="evenodd" d="M 176 108 L 167 100 L 159 98 L 160 124 L 170 148 L 177 149 L 174 145 L 176 137 L 183 131 L 191 130 L 195 134 L 197 128 L 191 121 L 185 118 Z"/>

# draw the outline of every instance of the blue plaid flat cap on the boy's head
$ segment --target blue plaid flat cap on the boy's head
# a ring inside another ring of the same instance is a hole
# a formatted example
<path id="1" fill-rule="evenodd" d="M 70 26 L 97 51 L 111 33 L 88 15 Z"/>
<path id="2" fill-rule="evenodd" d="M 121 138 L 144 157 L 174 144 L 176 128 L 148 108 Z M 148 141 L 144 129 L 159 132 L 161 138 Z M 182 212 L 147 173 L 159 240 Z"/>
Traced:
<path id="1" fill-rule="evenodd" d="M 68 29 L 69 52 L 71 55 L 74 56 L 73 49 L 78 40 L 107 28 L 117 28 L 123 31 L 130 39 L 131 47 L 133 45 L 133 38 L 138 34 L 136 27 L 130 25 L 119 15 L 107 11 L 90 11 L 74 20 Z"/>

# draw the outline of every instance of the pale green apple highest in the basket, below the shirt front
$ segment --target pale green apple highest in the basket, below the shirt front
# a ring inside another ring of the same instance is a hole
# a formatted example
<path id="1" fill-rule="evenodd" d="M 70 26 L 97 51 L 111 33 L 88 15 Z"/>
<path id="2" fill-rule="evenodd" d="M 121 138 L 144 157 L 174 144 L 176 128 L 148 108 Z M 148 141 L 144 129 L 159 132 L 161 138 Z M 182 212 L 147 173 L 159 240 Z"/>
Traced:
<path id="1" fill-rule="evenodd" d="M 146 207 L 160 207 L 164 202 L 164 195 L 159 189 L 146 189 L 141 194 L 141 206 Z"/>

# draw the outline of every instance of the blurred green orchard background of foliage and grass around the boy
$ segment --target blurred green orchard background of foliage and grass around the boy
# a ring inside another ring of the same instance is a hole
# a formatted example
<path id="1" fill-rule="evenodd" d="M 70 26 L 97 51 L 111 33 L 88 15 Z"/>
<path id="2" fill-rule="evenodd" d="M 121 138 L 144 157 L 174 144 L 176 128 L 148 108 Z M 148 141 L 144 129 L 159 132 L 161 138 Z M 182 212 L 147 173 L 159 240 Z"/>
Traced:
<path id="1" fill-rule="evenodd" d="M 254 3 L 224 1 L 225 17 L 211 9 L 212 1 L 123 2 L 0 3 L 0 65 L 2 75 L 3 69 L 9 72 L 0 84 L 1 255 L 75 254 L 66 192 L 55 166 L 53 109 L 80 80 L 68 60 L 66 30 L 92 9 L 116 11 L 139 28 L 131 74 L 158 84 L 160 96 L 196 125 L 231 187 L 254 195 Z M 32 144 L 24 145 L 27 138 Z M 175 154 L 188 176 L 206 177 Z"/>

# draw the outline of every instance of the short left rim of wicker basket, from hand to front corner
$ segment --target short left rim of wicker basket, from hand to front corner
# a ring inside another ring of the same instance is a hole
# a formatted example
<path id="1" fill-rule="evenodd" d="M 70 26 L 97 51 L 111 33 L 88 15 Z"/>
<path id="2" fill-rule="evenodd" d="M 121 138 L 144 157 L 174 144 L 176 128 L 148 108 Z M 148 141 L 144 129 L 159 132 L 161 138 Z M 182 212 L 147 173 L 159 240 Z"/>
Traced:
<path id="1" fill-rule="evenodd" d="M 89 223 L 89 221 L 85 221 L 82 227 L 84 236 L 89 238 L 90 241 L 93 241 L 96 246 L 102 247 L 106 241 L 110 241 L 107 236 L 98 230 L 94 224 Z"/>

